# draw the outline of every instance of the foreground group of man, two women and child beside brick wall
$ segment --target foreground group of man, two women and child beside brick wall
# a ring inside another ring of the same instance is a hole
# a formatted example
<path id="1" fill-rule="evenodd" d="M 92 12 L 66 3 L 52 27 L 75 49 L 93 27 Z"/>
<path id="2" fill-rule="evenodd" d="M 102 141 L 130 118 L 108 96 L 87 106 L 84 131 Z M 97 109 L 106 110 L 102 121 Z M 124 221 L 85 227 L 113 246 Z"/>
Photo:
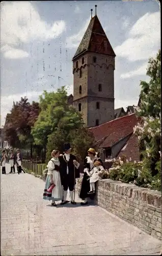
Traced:
<path id="1" fill-rule="evenodd" d="M 52 206 L 57 206 L 56 201 L 62 201 L 61 205 L 68 203 L 67 190 L 70 193 L 70 203 L 74 201 L 74 187 L 76 178 L 80 177 L 79 163 L 76 157 L 71 154 L 70 143 L 64 143 L 64 153 L 53 150 L 51 159 L 47 164 L 47 177 L 43 194 L 44 200 L 51 200 Z M 84 177 L 79 197 L 84 200 L 81 205 L 88 204 L 88 198 L 94 199 L 95 183 L 100 179 L 104 167 L 102 161 L 97 157 L 94 148 L 89 148 L 88 156 L 84 161 Z"/>

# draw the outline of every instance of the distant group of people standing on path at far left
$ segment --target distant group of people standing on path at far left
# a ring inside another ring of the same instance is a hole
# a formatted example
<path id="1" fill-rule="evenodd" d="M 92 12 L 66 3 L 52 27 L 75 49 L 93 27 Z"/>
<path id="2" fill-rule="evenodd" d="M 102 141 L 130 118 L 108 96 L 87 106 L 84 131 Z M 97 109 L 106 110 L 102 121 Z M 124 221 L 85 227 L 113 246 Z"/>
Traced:
<path id="1" fill-rule="evenodd" d="M 1 165 L 2 165 L 2 174 L 6 174 L 6 162 L 7 162 L 7 155 L 6 151 L 2 151 L 2 159 L 1 159 Z M 11 166 L 10 174 L 15 173 L 15 164 L 17 166 L 17 173 L 20 174 L 22 171 L 21 165 L 22 165 L 22 156 L 20 153 L 20 150 L 17 149 L 16 153 L 13 149 L 9 152 L 9 163 Z"/>

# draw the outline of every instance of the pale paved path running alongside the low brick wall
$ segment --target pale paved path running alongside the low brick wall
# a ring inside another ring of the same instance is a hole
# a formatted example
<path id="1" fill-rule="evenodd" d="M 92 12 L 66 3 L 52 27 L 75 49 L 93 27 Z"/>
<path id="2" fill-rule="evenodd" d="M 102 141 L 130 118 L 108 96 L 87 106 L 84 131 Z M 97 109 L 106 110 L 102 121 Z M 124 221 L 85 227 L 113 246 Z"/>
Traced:
<path id="1" fill-rule="evenodd" d="M 1 255 L 159 254 L 159 240 L 99 206 L 50 207 L 43 189 L 30 174 L 1 174 Z"/>

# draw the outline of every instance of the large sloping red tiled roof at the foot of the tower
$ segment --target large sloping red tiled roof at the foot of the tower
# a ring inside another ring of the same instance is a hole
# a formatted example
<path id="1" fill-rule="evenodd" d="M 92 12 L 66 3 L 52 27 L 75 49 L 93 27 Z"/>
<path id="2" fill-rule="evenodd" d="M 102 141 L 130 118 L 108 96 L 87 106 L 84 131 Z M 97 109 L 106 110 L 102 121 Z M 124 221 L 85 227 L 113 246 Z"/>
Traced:
<path id="1" fill-rule="evenodd" d="M 91 127 L 89 131 L 93 133 L 96 142 L 102 140 L 100 147 L 111 147 L 133 133 L 133 127 L 137 125 L 137 122 L 137 117 L 133 113 L 99 126 Z"/>

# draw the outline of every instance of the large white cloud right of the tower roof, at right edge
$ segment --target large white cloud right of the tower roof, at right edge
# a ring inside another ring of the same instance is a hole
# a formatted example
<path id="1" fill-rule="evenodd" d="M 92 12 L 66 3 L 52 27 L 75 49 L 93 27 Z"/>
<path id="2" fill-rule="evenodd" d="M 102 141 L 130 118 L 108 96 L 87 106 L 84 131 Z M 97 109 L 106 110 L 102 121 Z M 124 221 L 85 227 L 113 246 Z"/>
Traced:
<path id="1" fill-rule="evenodd" d="M 128 33 L 128 38 L 114 50 L 130 61 L 148 60 L 160 49 L 160 12 L 146 13 Z"/>

